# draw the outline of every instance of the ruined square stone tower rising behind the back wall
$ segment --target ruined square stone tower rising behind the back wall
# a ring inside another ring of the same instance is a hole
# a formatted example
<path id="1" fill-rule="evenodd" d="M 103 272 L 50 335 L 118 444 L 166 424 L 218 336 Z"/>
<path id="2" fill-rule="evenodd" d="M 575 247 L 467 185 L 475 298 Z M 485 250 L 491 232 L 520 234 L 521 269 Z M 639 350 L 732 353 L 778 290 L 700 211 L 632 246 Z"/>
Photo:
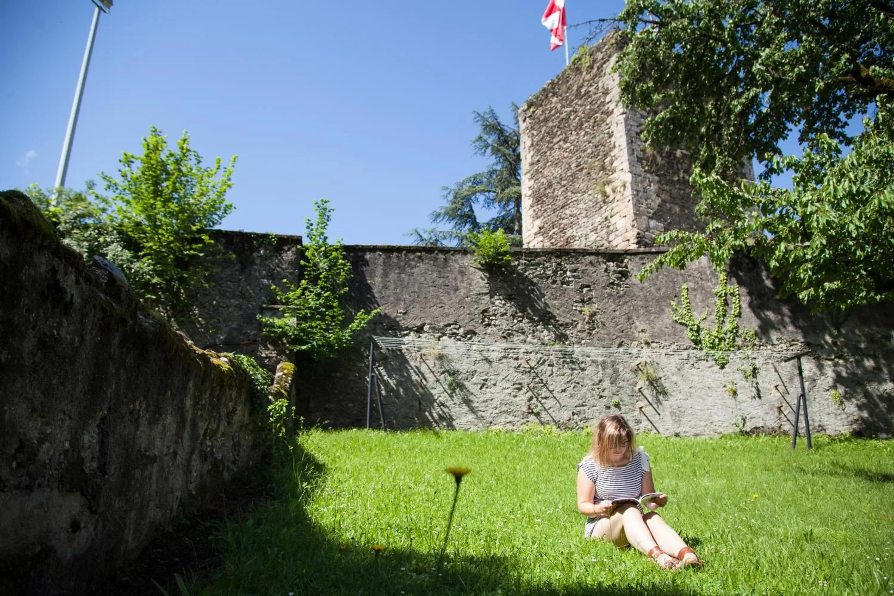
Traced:
<path id="1" fill-rule="evenodd" d="M 620 103 L 620 44 L 606 36 L 519 108 L 527 248 L 651 247 L 698 228 L 686 153 L 645 147 L 645 115 Z"/>

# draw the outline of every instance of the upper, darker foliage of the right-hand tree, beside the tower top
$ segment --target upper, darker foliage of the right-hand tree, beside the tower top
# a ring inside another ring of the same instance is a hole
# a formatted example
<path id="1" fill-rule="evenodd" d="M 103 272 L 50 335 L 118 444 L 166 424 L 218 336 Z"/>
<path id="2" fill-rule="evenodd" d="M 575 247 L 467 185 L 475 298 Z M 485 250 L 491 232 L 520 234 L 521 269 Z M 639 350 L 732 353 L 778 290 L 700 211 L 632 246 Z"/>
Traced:
<path id="1" fill-rule="evenodd" d="M 769 161 L 796 128 L 848 144 L 847 123 L 894 85 L 889 16 L 854 0 L 631 0 L 617 69 L 629 105 L 660 108 L 645 139 L 710 171 Z"/>

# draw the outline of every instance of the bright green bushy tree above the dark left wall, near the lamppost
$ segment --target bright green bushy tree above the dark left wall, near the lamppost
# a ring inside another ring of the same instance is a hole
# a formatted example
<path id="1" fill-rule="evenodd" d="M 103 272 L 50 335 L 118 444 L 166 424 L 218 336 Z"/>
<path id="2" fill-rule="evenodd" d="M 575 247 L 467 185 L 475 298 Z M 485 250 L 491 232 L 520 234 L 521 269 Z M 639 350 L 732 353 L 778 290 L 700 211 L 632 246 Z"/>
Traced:
<path id="1" fill-rule="evenodd" d="M 223 172 L 219 157 L 203 167 L 187 133 L 171 151 L 155 127 L 142 146 L 143 155 L 122 155 L 120 179 L 99 174 L 109 197 L 92 182 L 86 192 L 33 185 L 29 194 L 66 244 L 118 265 L 137 296 L 174 322 L 204 282 L 214 245 L 208 229 L 232 212 L 225 195 L 236 157 Z"/>

